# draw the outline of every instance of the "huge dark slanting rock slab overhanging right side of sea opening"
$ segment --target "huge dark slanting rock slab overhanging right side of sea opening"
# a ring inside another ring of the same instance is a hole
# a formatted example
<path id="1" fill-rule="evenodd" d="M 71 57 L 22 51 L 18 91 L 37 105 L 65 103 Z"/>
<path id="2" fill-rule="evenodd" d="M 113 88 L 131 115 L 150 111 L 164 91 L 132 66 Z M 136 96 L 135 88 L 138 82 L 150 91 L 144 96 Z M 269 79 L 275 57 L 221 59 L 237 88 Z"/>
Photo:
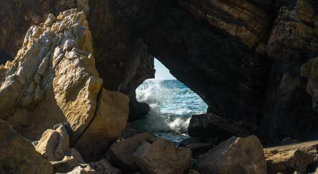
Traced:
<path id="1" fill-rule="evenodd" d="M 151 54 L 213 113 L 258 123 L 268 69 L 254 51 L 266 40 L 269 15 L 250 1 L 174 0 L 160 5 L 158 22 L 144 33 Z"/>

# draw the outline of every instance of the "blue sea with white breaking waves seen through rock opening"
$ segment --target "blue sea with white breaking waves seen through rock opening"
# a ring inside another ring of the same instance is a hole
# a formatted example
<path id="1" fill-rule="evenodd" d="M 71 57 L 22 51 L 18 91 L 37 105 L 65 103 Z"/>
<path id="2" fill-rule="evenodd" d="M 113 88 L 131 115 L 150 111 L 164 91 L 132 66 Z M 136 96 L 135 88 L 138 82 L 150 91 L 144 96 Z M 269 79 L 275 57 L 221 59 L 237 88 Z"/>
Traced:
<path id="1" fill-rule="evenodd" d="M 137 100 L 150 105 L 145 119 L 133 127 L 149 131 L 175 145 L 187 138 L 191 116 L 207 111 L 207 104 L 178 80 L 148 79 L 136 89 Z"/>

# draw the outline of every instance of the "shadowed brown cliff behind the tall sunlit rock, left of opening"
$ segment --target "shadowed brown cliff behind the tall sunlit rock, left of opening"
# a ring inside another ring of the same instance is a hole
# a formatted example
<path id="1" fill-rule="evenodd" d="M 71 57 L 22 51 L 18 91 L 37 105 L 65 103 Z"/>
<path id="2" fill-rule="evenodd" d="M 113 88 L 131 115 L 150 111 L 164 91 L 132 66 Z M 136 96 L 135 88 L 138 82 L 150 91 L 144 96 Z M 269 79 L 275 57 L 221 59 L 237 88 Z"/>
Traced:
<path id="1" fill-rule="evenodd" d="M 53 13 L 58 15 L 70 8 L 87 12 L 92 30 L 97 69 L 105 80 L 103 86 L 130 96 L 130 107 L 136 114 L 132 120 L 144 117 L 148 105 L 140 104 L 135 89 L 146 79 L 155 75 L 154 58 L 148 53 L 147 45 L 136 35 L 130 34 L 130 27 L 116 21 L 114 1 L 110 0 L 4 0 L 0 2 L 0 64 L 11 60 L 23 43 L 23 36 L 30 26 L 45 22 Z M 129 2 L 135 3 L 135 2 Z M 138 2 L 140 4 L 140 2 Z M 133 6 L 133 5 L 132 5 Z M 128 9 L 126 9 L 128 11 Z M 134 14 L 137 15 L 137 14 Z M 9 43 L 9 44 L 8 44 Z M 4 60 L 3 58 L 4 57 Z M 139 107 L 143 106 L 143 107 Z M 137 117 L 135 117 L 137 116 Z M 135 118 L 134 118 L 135 117 Z"/>

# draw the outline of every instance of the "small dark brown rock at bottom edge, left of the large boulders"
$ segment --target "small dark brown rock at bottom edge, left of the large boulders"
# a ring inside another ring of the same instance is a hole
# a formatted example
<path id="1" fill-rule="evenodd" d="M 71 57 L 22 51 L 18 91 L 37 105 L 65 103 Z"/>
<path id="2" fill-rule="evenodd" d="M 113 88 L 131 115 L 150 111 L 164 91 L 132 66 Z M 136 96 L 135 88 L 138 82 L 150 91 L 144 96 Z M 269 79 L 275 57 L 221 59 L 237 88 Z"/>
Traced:
<path id="1" fill-rule="evenodd" d="M 95 174 L 121 174 L 119 169 L 112 167 L 105 159 L 90 163 L 90 165 L 96 171 Z"/>

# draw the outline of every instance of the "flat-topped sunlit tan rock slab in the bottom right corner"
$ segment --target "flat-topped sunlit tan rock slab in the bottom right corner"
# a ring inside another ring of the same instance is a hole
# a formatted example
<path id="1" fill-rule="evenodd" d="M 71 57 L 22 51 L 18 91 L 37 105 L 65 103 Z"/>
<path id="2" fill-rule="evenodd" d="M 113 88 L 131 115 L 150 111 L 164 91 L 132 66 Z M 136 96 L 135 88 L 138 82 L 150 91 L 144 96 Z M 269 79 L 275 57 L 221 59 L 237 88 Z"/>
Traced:
<path id="1" fill-rule="evenodd" d="M 269 174 L 308 173 L 310 163 L 317 162 L 318 141 L 296 143 L 264 149 Z M 316 166 L 317 168 L 317 166 Z"/>

